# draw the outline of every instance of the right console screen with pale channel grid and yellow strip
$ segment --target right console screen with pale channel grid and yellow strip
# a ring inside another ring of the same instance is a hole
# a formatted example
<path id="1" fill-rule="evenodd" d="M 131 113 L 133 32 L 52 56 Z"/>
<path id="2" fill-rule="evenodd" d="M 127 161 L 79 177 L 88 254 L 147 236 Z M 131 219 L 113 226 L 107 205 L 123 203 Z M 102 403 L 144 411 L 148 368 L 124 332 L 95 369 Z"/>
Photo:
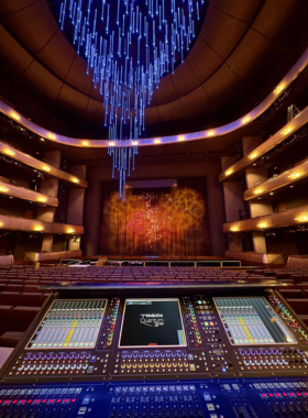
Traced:
<path id="1" fill-rule="evenodd" d="M 231 344 L 296 343 L 265 298 L 213 298 L 213 301 Z"/>

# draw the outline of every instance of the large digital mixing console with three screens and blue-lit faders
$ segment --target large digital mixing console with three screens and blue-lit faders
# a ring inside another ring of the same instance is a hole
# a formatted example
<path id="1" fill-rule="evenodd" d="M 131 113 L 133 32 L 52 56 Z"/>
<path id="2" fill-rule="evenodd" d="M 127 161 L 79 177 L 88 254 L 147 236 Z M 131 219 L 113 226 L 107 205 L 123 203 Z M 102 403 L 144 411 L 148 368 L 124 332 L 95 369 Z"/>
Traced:
<path id="1" fill-rule="evenodd" d="M 55 286 L 0 418 L 308 416 L 308 333 L 277 285 Z"/>

